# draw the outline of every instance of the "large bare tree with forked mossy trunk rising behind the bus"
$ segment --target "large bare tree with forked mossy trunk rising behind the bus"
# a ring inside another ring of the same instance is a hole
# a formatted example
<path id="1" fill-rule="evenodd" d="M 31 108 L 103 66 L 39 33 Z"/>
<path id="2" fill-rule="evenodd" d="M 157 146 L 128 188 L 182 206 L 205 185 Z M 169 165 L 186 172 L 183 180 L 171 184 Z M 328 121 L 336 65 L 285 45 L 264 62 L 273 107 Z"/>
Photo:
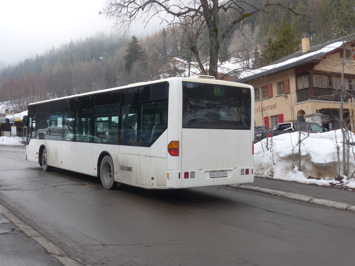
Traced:
<path id="1" fill-rule="evenodd" d="M 140 21 L 148 23 L 153 17 L 161 19 L 168 27 L 176 24 L 195 24 L 195 35 L 199 35 L 200 29 L 207 27 L 209 39 L 209 75 L 218 78 L 219 49 L 223 40 L 229 35 L 235 25 L 244 22 L 248 17 L 259 12 L 270 12 L 273 6 L 290 8 L 277 1 L 244 1 L 244 0 L 107 0 L 103 7 L 103 13 L 114 22 L 114 27 L 127 37 L 133 23 Z M 293 12 L 294 13 L 294 12 Z M 220 17 L 231 18 L 223 26 Z M 189 28 L 186 28 L 189 30 Z M 190 32 L 191 34 L 191 32 Z M 192 34 L 190 36 L 192 36 Z M 203 62 L 197 46 L 190 46 L 195 55 L 198 67 L 206 74 Z"/>

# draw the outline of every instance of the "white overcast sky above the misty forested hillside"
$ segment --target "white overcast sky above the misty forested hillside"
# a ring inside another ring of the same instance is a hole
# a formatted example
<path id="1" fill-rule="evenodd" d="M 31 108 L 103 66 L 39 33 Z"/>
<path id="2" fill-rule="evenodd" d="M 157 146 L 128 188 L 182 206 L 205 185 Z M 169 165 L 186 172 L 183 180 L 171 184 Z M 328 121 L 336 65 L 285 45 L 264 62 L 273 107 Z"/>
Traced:
<path id="1" fill-rule="evenodd" d="M 97 32 L 109 33 L 110 21 L 99 15 L 103 0 L 2 0 L 0 62 L 16 64 L 42 55 L 52 46 L 85 39 Z M 152 33 L 156 29 L 132 29 Z"/>

